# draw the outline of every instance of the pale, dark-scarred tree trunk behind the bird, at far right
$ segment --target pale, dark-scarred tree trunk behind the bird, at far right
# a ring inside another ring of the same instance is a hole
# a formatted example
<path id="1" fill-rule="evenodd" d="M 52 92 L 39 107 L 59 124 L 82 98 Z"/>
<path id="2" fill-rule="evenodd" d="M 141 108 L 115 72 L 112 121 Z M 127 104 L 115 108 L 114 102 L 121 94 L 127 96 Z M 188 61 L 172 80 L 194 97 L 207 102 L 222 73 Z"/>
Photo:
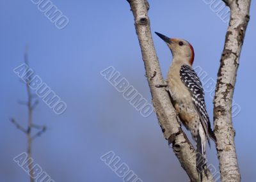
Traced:
<path id="1" fill-rule="evenodd" d="M 232 98 L 244 35 L 250 19 L 250 0 L 223 0 L 230 8 L 230 22 L 221 55 L 214 97 L 214 133 L 221 181 L 241 181 L 232 126 Z"/>

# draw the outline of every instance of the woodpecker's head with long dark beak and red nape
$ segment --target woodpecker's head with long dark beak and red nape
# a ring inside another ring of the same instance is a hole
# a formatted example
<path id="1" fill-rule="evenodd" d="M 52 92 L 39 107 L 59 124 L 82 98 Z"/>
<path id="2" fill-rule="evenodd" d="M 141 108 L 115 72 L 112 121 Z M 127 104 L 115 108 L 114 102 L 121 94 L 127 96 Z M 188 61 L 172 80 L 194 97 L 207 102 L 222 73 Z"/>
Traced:
<path id="1" fill-rule="evenodd" d="M 155 33 L 167 43 L 172 51 L 173 58 L 179 61 L 185 61 L 190 65 L 193 64 L 195 53 L 192 45 L 188 41 L 179 38 L 168 38 L 161 33 Z"/>

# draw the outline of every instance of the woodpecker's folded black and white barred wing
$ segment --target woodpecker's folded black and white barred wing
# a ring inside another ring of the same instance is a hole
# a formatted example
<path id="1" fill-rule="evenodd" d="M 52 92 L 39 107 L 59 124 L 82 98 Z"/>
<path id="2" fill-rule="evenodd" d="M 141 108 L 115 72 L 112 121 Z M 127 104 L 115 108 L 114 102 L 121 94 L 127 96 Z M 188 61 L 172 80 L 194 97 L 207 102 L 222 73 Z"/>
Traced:
<path id="1" fill-rule="evenodd" d="M 193 103 L 195 104 L 196 111 L 200 116 L 200 122 L 204 128 L 204 132 L 207 135 L 207 140 L 210 145 L 209 136 L 212 137 L 211 123 L 205 107 L 204 101 L 204 88 L 202 83 L 196 75 L 195 70 L 191 66 L 182 65 L 180 67 L 180 79 L 188 87 Z"/>

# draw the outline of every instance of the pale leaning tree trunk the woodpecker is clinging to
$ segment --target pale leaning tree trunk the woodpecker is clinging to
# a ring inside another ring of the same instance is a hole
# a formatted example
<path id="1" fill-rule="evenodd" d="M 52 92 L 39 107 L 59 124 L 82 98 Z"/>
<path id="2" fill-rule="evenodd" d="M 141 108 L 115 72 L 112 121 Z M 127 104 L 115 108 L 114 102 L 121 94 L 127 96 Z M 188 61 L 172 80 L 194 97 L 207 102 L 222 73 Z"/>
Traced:
<path id="1" fill-rule="evenodd" d="M 193 149 L 177 121 L 177 114 L 173 108 L 170 96 L 164 88 L 156 87 L 157 84 L 164 84 L 164 79 L 150 31 L 150 20 L 147 12 L 149 4 L 146 0 L 129 0 L 128 2 L 134 15 L 136 34 L 140 42 L 152 102 L 164 138 L 168 140 L 169 144 L 172 144 L 173 151 L 183 169 L 187 172 L 191 182 L 199 181 L 196 172 L 195 149 Z M 209 179 L 204 176 L 203 181 L 214 181 L 211 173 L 209 171 L 207 173 Z"/>

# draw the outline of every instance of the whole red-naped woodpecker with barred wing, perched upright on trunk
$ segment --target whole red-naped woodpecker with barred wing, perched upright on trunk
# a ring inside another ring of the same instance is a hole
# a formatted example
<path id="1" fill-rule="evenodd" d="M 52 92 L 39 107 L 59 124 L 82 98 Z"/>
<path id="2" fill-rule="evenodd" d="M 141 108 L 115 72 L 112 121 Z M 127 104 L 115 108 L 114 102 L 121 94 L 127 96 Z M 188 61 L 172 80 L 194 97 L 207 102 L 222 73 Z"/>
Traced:
<path id="1" fill-rule="evenodd" d="M 191 132 L 196 143 L 196 171 L 202 181 L 206 171 L 206 143 L 210 138 L 216 142 L 214 132 L 205 107 L 204 88 L 200 78 L 192 68 L 195 52 L 192 45 L 180 38 L 168 38 L 157 33 L 172 52 L 172 64 L 168 70 L 166 86 L 170 91 L 172 103 L 182 124 Z"/>

